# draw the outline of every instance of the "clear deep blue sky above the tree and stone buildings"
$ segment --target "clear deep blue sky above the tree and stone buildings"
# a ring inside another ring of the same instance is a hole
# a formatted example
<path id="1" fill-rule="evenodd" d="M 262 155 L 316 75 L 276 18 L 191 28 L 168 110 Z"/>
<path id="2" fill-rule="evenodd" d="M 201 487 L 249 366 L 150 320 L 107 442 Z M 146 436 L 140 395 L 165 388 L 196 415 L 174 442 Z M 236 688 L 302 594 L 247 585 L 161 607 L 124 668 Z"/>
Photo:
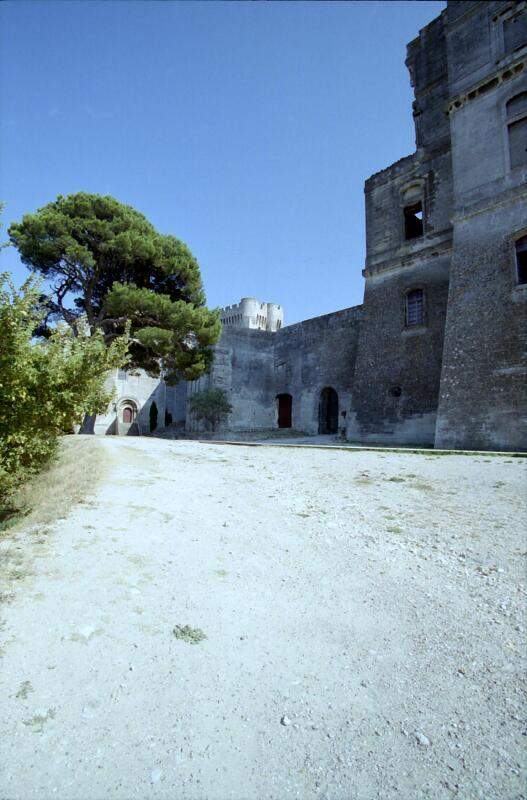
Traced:
<path id="1" fill-rule="evenodd" d="M 4 223 L 111 194 L 190 246 L 211 306 L 356 305 L 363 183 L 414 149 L 406 44 L 444 6 L 4 2 Z"/>

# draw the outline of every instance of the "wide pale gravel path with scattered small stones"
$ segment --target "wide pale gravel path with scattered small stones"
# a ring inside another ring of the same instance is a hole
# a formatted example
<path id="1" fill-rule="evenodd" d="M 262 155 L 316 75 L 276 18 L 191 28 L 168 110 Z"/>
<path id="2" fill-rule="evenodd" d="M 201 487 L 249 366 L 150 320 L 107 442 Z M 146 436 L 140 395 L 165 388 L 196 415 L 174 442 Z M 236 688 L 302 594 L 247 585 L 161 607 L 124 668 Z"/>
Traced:
<path id="1" fill-rule="evenodd" d="M 525 797 L 525 460 L 100 446 L 1 543 L 2 800 Z"/>

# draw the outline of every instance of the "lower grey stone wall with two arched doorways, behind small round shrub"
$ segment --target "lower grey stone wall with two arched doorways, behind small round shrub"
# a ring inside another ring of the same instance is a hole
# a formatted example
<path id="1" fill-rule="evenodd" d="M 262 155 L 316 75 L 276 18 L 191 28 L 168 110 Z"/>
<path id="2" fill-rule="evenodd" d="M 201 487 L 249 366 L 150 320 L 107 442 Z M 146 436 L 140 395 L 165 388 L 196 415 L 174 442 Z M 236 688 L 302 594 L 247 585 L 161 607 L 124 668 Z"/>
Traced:
<path id="1" fill-rule="evenodd" d="M 333 388 L 349 409 L 361 307 L 305 320 L 275 333 L 225 327 L 210 375 L 189 384 L 189 396 L 224 389 L 233 411 L 224 430 L 278 426 L 277 395 L 292 396 L 292 427 L 317 433 L 321 391 Z M 203 428 L 191 413 L 187 428 Z"/>

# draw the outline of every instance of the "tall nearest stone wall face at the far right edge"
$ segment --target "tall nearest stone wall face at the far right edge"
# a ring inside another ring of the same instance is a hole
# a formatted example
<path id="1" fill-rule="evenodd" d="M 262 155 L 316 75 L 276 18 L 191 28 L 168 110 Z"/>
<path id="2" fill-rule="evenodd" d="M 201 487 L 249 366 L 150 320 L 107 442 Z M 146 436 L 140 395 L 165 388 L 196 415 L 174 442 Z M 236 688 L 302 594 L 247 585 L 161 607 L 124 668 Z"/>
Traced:
<path id="1" fill-rule="evenodd" d="M 462 11 L 448 8 L 454 249 L 436 445 L 527 449 L 527 285 L 514 254 L 527 164 L 511 166 L 506 106 L 527 91 L 527 35 L 507 51 L 512 4 Z"/>

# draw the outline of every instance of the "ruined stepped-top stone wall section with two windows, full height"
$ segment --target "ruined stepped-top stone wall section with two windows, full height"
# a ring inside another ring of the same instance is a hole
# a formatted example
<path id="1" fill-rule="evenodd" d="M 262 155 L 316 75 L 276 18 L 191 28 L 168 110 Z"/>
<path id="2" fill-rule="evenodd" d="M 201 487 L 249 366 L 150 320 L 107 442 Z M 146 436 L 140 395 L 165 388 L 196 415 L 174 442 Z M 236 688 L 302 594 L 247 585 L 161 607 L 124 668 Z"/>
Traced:
<path id="1" fill-rule="evenodd" d="M 452 247 L 452 165 L 444 19 L 408 46 L 417 153 L 366 181 L 366 278 L 348 438 L 432 445 Z M 423 233 L 407 238 L 405 208 L 421 204 Z M 424 292 L 409 327 L 407 293 Z"/>

